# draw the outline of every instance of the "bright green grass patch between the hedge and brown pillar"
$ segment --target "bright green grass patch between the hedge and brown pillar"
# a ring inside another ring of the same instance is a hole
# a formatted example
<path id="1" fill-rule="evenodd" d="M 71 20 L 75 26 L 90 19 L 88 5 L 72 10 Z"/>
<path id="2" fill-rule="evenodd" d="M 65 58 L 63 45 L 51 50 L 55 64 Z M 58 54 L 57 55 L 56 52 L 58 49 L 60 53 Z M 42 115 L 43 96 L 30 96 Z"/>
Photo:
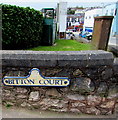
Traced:
<path id="1" fill-rule="evenodd" d="M 76 40 L 56 40 L 53 46 L 38 46 L 28 50 L 34 51 L 80 51 L 91 50 L 91 44 L 79 43 Z"/>

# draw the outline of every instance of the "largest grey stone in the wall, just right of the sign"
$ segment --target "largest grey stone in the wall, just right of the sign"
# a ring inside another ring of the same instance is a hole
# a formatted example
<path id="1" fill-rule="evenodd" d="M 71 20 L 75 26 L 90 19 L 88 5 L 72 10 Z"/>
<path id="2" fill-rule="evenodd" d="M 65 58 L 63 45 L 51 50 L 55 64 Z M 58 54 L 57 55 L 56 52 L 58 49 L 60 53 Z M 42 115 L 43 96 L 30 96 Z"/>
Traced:
<path id="1" fill-rule="evenodd" d="M 75 91 L 75 92 L 79 92 L 81 94 L 83 93 L 88 93 L 91 92 L 92 89 L 90 88 L 90 84 L 91 84 L 91 79 L 89 78 L 77 78 L 73 85 L 71 86 L 71 90 Z"/>

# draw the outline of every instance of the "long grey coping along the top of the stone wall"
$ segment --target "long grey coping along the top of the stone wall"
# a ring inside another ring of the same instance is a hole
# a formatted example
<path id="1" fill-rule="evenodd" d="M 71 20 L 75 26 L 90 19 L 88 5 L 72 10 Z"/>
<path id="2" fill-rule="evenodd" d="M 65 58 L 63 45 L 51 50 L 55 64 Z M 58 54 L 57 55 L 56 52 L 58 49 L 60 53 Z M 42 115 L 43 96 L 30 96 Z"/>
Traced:
<path id="1" fill-rule="evenodd" d="M 1 50 L 4 67 L 90 67 L 113 65 L 113 54 L 103 50 L 25 51 Z"/>

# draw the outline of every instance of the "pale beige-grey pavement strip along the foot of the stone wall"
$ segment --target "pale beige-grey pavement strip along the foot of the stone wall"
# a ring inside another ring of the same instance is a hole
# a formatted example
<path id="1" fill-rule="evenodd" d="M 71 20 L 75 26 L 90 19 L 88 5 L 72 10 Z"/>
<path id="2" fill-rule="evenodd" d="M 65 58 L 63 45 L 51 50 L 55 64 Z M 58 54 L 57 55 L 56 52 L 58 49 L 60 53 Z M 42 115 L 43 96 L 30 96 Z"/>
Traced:
<path id="1" fill-rule="evenodd" d="M 2 107 L 2 118 L 116 118 L 116 115 L 80 115 L 75 113 L 58 113 L 51 111 L 29 110 L 18 107 Z M 103 119 L 102 119 L 103 120 Z"/>

